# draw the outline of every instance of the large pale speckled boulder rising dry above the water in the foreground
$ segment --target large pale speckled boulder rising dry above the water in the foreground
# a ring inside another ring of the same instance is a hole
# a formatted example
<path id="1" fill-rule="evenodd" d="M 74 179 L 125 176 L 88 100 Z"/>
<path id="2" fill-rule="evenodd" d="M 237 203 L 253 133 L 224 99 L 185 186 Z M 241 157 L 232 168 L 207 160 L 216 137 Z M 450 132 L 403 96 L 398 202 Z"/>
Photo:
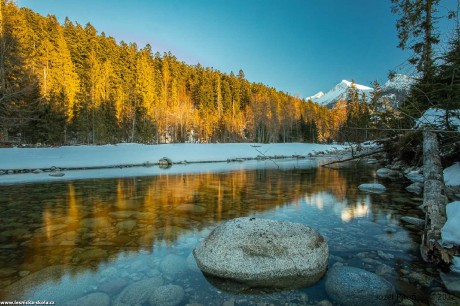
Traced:
<path id="1" fill-rule="evenodd" d="M 326 272 L 324 238 L 300 223 L 237 218 L 215 228 L 193 251 L 198 267 L 213 279 L 247 288 L 299 288 Z"/>

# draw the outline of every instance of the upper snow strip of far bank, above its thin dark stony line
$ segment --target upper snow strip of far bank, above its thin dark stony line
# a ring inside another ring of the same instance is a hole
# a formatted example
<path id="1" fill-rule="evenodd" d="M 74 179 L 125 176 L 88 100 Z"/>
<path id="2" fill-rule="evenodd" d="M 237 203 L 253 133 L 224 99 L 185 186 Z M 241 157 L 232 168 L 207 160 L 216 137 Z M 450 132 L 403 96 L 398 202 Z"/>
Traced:
<path id="1" fill-rule="evenodd" d="M 315 151 L 341 149 L 337 145 L 287 144 L 118 144 L 57 148 L 0 149 L 0 169 L 103 168 L 155 164 L 162 157 L 178 162 L 215 162 L 257 156 L 306 156 Z"/>

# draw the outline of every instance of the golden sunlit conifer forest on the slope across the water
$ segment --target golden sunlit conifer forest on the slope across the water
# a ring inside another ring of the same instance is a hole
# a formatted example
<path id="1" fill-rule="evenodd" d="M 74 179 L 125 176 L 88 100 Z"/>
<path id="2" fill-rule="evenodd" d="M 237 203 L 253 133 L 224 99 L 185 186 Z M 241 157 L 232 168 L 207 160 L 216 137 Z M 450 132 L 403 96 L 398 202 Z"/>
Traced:
<path id="1" fill-rule="evenodd" d="M 325 107 L 1 1 L 0 141 L 327 141 Z M 337 112 L 338 113 L 338 112 Z M 331 116 L 332 115 L 332 116 Z"/>

